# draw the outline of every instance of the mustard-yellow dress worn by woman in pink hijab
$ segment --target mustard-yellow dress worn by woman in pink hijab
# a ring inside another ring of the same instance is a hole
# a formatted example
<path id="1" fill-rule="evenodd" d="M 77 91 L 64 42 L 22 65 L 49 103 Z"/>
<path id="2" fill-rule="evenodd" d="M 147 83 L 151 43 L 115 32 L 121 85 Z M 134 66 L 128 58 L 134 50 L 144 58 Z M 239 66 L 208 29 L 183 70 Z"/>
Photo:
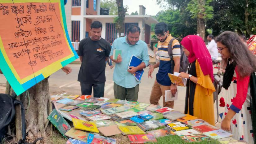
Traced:
<path id="1" fill-rule="evenodd" d="M 194 116 L 214 125 L 213 92 L 215 88 L 210 76 L 204 76 L 197 60 L 195 62 L 195 69 L 198 81 L 195 86 Z"/>

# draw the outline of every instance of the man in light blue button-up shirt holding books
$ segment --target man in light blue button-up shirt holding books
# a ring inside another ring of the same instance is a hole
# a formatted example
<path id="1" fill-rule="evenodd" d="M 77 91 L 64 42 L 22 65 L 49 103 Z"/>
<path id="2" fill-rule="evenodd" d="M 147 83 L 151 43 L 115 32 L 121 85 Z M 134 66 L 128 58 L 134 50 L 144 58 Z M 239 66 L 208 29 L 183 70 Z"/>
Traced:
<path id="1" fill-rule="evenodd" d="M 146 68 L 149 62 L 148 48 L 144 41 L 139 40 L 140 28 L 137 25 L 130 25 L 127 29 L 127 35 L 115 39 L 110 52 L 110 59 L 116 63 L 114 70 L 114 95 L 115 98 L 128 101 L 138 100 L 139 83 L 133 74 Z M 114 50 L 122 50 L 121 55 L 117 59 L 113 59 Z M 128 65 L 132 55 L 142 59 L 137 67 Z"/>

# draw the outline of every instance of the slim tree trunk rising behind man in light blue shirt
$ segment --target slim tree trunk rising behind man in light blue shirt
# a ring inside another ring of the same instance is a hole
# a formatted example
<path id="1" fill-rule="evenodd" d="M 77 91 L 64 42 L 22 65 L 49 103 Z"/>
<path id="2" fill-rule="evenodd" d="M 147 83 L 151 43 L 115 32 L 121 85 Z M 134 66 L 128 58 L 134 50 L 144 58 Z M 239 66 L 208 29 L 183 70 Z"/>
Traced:
<path id="1" fill-rule="evenodd" d="M 124 33 L 124 17 L 127 12 L 127 8 L 124 8 L 123 0 L 116 0 L 117 8 L 118 8 L 118 20 L 116 23 L 116 29 L 118 31 L 119 37 L 121 37 L 121 33 Z"/>

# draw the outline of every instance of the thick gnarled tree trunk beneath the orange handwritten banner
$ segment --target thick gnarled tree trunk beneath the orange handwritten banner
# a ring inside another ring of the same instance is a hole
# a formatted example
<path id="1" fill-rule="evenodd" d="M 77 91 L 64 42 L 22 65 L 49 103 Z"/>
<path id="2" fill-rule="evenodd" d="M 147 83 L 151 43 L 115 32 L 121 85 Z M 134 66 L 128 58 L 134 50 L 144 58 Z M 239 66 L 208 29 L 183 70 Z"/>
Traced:
<path id="1" fill-rule="evenodd" d="M 27 140 L 34 141 L 38 137 L 46 138 L 47 132 L 52 132 L 47 120 L 47 116 L 52 111 L 48 78 L 28 89 L 28 92 L 24 92 L 19 98 L 25 108 Z M 20 108 L 17 110 L 16 141 L 21 138 Z"/>

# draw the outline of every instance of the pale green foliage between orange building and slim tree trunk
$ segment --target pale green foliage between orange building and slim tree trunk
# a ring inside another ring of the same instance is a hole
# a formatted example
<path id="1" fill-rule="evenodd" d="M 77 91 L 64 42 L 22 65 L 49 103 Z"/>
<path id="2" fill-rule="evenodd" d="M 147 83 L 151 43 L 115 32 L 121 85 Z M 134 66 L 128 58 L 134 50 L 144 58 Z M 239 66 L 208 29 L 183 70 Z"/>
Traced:
<path id="1" fill-rule="evenodd" d="M 118 15 L 117 5 L 115 0 L 101 0 L 101 8 L 108 8 L 109 15 Z"/>

